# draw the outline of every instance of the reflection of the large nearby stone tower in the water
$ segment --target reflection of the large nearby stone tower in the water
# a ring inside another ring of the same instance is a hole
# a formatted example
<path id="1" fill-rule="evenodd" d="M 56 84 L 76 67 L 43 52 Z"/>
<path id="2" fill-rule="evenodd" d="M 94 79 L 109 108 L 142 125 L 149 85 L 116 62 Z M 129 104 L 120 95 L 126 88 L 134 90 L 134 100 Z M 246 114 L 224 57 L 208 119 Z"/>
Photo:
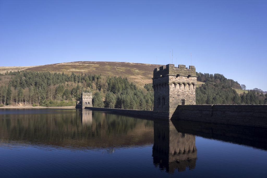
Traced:
<path id="1" fill-rule="evenodd" d="M 195 135 L 178 132 L 171 121 L 154 121 L 153 163 L 166 172 L 194 169 L 197 160 Z"/>

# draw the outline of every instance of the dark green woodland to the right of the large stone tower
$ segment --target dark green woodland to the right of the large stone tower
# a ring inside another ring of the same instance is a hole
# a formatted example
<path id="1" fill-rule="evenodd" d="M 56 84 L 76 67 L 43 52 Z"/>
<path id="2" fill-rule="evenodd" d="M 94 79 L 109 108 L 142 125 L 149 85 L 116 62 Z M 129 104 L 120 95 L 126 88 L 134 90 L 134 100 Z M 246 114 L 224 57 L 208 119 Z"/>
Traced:
<path id="1" fill-rule="evenodd" d="M 205 82 L 196 88 L 196 104 L 267 104 L 267 94 L 255 90 L 238 94 L 240 84 L 222 74 L 198 73 L 197 81 Z"/>

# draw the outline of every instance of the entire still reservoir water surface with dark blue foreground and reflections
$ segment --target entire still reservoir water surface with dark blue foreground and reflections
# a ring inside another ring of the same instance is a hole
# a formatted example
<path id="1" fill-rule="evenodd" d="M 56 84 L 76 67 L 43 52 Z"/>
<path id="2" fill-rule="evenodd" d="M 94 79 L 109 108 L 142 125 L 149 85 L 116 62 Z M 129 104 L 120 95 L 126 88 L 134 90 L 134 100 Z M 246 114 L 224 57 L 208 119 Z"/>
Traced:
<path id="1" fill-rule="evenodd" d="M 0 109 L 0 177 L 266 177 L 267 129 Z"/>

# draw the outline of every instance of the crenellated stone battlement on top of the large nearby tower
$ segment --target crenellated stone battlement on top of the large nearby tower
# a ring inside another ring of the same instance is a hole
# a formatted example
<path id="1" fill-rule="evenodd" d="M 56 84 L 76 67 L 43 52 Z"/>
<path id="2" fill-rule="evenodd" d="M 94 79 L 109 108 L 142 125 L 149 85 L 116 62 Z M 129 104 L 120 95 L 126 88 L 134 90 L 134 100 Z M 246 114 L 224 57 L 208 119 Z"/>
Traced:
<path id="1" fill-rule="evenodd" d="M 186 68 L 185 65 L 178 65 L 178 68 L 174 64 L 167 64 L 166 66 L 160 66 L 154 69 L 153 78 L 164 77 L 164 76 L 186 76 L 186 77 L 197 77 L 195 66 L 189 66 Z"/>

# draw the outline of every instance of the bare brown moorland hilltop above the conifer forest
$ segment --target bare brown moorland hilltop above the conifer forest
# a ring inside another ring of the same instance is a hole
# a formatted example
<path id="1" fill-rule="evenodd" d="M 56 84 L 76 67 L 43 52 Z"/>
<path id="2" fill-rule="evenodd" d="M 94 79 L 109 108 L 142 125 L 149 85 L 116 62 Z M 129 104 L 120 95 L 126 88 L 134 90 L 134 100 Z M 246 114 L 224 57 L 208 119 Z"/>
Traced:
<path id="1" fill-rule="evenodd" d="M 155 68 L 155 64 L 77 61 L 41 66 L 0 67 L 0 73 L 5 73 L 6 71 L 29 70 L 38 72 L 73 72 L 74 74 L 101 74 L 104 76 L 127 77 L 129 81 L 135 82 L 138 86 L 144 86 L 144 84 L 152 82 L 151 78 L 153 77 L 153 70 Z"/>

